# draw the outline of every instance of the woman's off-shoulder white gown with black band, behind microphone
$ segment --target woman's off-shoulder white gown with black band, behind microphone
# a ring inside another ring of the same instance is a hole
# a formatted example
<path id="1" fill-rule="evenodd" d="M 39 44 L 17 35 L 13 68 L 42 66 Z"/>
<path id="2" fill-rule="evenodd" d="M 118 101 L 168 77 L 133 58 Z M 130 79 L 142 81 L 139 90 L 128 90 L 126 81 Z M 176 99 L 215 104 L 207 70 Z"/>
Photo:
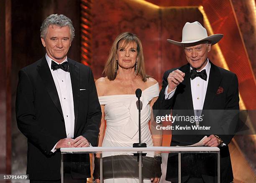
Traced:
<path id="1" fill-rule="evenodd" d="M 159 95 L 159 84 L 156 83 L 141 94 L 141 142 L 153 146 L 149 120 L 151 107 L 149 102 Z M 107 95 L 99 97 L 100 105 L 104 106 L 105 120 L 107 122 L 102 147 L 132 147 L 138 143 L 138 98 L 136 95 Z M 105 152 L 102 157 L 113 155 L 133 155 L 131 152 Z M 154 157 L 154 152 L 146 156 Z M 103 170 L 104 171 L 104 170 Z M 143 180 L 151 183 L 151 180 Z M 138 178 L 109 178 L 104 183 L 136 183 Z"/>

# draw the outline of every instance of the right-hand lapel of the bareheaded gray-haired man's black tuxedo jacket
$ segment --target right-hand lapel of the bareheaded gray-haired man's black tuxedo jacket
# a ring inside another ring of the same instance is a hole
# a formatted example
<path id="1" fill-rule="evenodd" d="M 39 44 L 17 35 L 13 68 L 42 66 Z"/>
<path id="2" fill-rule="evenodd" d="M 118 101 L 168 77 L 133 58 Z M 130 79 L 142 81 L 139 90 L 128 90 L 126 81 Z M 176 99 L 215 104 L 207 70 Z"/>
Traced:
<path id="1" fill-rule="evenodd" d="M 72 93 L 73 93 L 73 100 L 74 100 L 74 134 L 77 127 L 77 117 L 79 111 L 79 92 L 80 92 L 80 72 L 79 66 L 73 60 L 68 58 L 69 63 L 69 71 L 70 71 L 70 78 L 72 84 Z"/>

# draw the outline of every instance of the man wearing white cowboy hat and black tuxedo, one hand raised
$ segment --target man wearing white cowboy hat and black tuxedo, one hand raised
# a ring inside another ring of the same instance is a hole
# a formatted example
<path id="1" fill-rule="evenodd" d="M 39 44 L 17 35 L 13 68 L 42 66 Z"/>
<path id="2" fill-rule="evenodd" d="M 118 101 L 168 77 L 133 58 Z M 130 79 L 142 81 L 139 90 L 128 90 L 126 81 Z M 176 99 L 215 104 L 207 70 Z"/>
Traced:
<path id="1" fill-rule="evenodd" d="M 182 42 L 167 40 L 184 48 L 188 64 L 167 70 L 164 73 L 162 89 L 153 109 L 172 109 L 172 115 L 175 111 L 179 111 L 177 114 L 180 115 L 181 110 L 187 110 L 192 111 L 191 115 L 194 116 L 200 116 L 202 111 L 204 113 L 207 110 L 239 109 L 238 78 L 234 73 L 215 66 L 207 58 L 211 46 L 218 43 L 222 37 L 222 34 L 208 36 L 206 29 L 199 22 L 187 22 L 182 30 Z M 204 124 L 214 120 L 214 123 L 218 124 L 218 129 L 229 127 L 225 126 L 222 123 L 223 119 L 218 118 L 218 116 L 211 116 L 211 118 L 205 120 Z M 232 116 L 228 116 L 225 121 L 231 123 L 232 119 Z M 201 124 L 197 121 L 196 125 Z M 214 127 L 212 126 L 212 128 Z M 192 145 L 204 136 L 202 133 L 193 135 L 188 135 L 189 133 L 172 134 L 171 146 Z M 233 135 L 230 133 L 210 133 L 207 136 L 204 140 L 205 146 L 220 148 L 220 182 L 232 182 L 233 173 L 228 143 L 230 143 Z M 217 166 L 216 159 L 210 154 L 184 153 L 181 165 L 182 182 L 217 182 L 216 168 L 213 168 Z M 172 183 L 178 182 L 177 167 L 177 154 L 169 154 L 166 180 L 172 181 Z"/>

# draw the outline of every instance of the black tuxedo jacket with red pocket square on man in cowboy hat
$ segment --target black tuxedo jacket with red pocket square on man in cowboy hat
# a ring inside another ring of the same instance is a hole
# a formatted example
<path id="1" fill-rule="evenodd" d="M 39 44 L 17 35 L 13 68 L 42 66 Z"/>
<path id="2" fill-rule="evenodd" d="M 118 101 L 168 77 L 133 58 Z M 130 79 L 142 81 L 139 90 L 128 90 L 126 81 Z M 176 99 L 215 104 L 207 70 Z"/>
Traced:
<path id="1" fill-rule="evenodd" d="M 202 113 L 204 110 L 238 110 L 239 109 L 239 96 L 238 96 L 238 79 L 234 73 L 228 70 L 217 67 L 211 64 L 210 75 L 207 91 L 205 95 L 205 102 L 203 105 Z M 184 80 L 180 83 L 174 96 L 165 100 L 165 89 L 168 85 L 167 78 L 169 73 L 179 69 L 185 73 Z M 219 87 L 223 88 L 223 93 L 217 94 Z M 191 115 L 194 115 L 193 101 L 190 85 L 190 67 L 189 64 L 183 65 L 180 68 L 167 70 L 164 73 L 162 89 L 159 93 L 158 100 L 153 105 L 154 110 L 159 109 L 172 109 L 172 110 L 191 110 Z M 226 119 L 223 121 L 232 120 Z M 226 123 L 223 123 L 223 129 L 227 128 Z M 233 135 L 219 135 L 224 141 L 226 146 L 220 148 L 220 166 L 221 166 L 221 182 L 231 182 L 233 180 L 233 173 L 230 161 L 230 154 L 228 150 L 228 143 L 233 138 Z M 218 134 L 214 134 L 218 135 Z M 192 145 L 202 139 L 204 135 L 172 135 L 171 146 L 176 145 Z M 168 170 L 167 170 L 168 172 Z M 167 175 L 166 175 L 167 177 Z"/>

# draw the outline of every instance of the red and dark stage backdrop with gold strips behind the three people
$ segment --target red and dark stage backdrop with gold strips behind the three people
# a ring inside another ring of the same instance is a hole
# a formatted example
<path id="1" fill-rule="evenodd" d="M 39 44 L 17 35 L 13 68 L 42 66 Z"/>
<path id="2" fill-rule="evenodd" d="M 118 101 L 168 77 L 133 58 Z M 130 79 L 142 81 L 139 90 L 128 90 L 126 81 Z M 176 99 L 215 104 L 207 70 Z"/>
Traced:
<path id="1" fill-rule="evenodd" d="M 209 34 L 224 34 L 210 59 L 238 75 L 241 108 L 256 109 L 254 0 L 2 0 L 0 10 L 5 14 L 0 19 L 3 173 L 26 172 L 26 138 L 17 129 L 14 111 L 18 70 L 44 55 L 39 30 L 53 13 L 72 19 L 76 37 L 68 56 L 90 65 L 95 79 L 102 77 L 115 37 L 130 31 L 141 38 L 146 71 L 159 84 L 165 70 L 187 63 L 183 50 L 166 39 L 181 40 L 184 23 L 199 21 Z M 235 139 L 230 144 L 235 182 L 250 182 L 255 178 L 255 136 Z M 164 145 L 169 140 L 165 137 Z"/>

